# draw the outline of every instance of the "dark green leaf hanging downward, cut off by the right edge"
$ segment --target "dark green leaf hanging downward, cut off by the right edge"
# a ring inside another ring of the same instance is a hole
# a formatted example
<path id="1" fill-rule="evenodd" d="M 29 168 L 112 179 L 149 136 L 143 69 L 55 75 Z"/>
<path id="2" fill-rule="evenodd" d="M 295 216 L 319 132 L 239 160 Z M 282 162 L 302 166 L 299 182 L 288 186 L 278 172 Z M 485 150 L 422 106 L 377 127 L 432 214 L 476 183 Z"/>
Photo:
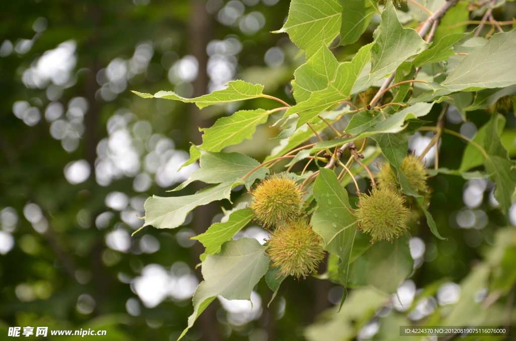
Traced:
<path id="1" fill-rule="evenodd" d="M 496 114 L 492 115 L 487 124 L 484 148 L 489 156 L 485 163 L 486 172 L 492 174 L 489 178 L 496 183 L 494 197 L 507 216 L 512 204 L 511 198 L 516 189 L 516 166 L 509 159 L 509 152 L 498 135 L 498 115 Z"/>

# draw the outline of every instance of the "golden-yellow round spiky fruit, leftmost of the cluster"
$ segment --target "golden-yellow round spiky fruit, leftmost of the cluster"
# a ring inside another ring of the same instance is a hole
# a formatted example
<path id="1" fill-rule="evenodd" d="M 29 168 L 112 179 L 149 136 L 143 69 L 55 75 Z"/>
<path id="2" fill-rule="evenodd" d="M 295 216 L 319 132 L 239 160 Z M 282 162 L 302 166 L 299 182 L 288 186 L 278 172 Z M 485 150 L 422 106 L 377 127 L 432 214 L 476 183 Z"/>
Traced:
<path id="1" fill-rule="evenodd" d="M 249 208 L 266 228 L 286 224 L 303 212 L 303 193 L 294 179 L 284 175 L 263 180 L 250 193 Z"/>

